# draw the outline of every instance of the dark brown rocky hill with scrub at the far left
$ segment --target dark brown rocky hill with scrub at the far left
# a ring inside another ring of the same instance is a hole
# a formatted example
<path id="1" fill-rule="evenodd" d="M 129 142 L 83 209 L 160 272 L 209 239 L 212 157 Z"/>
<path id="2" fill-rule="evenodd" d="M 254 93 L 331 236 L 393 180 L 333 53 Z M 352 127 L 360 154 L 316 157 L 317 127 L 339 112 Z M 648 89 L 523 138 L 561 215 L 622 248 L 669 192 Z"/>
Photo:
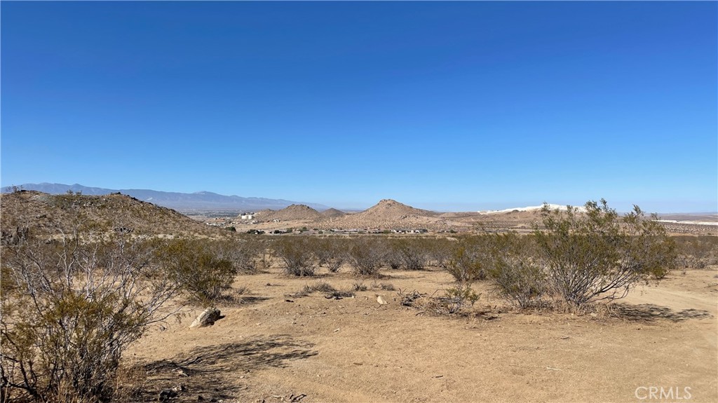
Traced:
<path id="1" fill-rule="evenodd" d="M 225 236 L 223 229 L 210 227 L 172 209 L 159 207 L 123 194 L 90 196 L 53 195 L 39 191 L 17 191 L 0 195 L 2 232 L 17 228 L 71 229 L 78 220 L 107 226 L 116 231 L 151 235 Z"/>

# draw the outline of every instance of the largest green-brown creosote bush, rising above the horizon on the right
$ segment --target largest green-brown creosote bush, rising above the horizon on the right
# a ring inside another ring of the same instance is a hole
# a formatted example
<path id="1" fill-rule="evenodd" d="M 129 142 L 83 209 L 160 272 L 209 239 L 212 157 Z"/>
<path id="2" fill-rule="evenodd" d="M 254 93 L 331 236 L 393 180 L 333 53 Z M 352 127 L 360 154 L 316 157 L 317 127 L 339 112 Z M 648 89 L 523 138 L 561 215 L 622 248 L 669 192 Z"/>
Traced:
<path id="1" fill-rule="evenodd" d="M 676 262 L 666 229 L 635 206 L 620 215 L 605 200 L 551 210 L 534 225 L 538 265 L 551 292 L 571 305 L 623 298 L 641 281 L 661 278 Z"/>

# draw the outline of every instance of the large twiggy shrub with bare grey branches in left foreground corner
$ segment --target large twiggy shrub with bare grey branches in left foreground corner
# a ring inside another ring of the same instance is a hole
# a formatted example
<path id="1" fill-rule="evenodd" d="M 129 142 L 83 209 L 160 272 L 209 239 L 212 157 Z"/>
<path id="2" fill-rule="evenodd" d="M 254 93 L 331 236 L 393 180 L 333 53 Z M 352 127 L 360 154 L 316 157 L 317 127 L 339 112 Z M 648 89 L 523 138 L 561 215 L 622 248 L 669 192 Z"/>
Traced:
<path id="1" fill-rule="evenodd" d="M 123 351 L 180 292 L 144 237 L 82 217 L 59 228 L 0 249 L 3 402 L 111 401 Z"/>

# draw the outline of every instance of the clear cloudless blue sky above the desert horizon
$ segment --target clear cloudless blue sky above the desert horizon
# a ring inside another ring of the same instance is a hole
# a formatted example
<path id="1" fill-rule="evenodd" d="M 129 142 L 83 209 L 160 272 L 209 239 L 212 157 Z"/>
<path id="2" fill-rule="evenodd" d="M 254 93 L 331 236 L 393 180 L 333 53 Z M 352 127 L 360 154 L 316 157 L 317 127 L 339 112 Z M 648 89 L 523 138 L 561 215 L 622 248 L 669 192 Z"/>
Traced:
<path id="1" fill-rule="evenodd" d="M 718 3 L 13 2 L 1 184 L 718 210 Z"/>

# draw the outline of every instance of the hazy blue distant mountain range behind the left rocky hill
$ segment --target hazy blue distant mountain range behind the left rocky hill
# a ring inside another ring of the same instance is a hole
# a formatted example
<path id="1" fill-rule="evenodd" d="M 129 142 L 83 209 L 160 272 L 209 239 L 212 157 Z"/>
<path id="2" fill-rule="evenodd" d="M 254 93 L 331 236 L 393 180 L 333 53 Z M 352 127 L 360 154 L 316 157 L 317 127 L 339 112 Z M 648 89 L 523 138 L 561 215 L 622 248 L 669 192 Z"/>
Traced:
<path id="1" fill-rule="evenodd" d="M 196 193 L 178 193 L 173 191 L 157 191 L 150 189 L 104 189 L 83 186 L 80 184 L 22 184 L 19 189 L 42 191 L 48 194 L 64 194 L 67 191 L 82 192 L 88 195 L 101 195 L 121 193 L 142 201 L 149 201 L 162 207 L 169 207 L 180 212 L 210 212 L 210 211 L 236 211 L 253 212 L 261 209 L 284 209 L 292 204 L 305 204 L 318 211 L 329 209 L 328 206 L 317 203 L 305 203 L 284 199 L 266 199 L 264 197 L 225 196 L 211 191 L 197 191 Z M 5 186 L 0 189 L 3 193 L 10 193 L 14 186 Z"/>

